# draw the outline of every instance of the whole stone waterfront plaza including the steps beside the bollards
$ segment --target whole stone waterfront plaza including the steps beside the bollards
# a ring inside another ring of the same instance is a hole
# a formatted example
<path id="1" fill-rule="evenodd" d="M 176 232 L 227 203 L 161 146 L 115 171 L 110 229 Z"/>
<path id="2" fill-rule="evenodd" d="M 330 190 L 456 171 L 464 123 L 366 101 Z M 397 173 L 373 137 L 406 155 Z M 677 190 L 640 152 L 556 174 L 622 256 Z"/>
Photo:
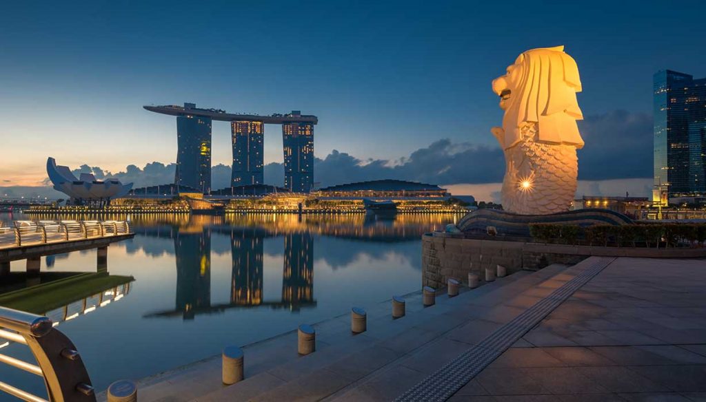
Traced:
<path id="1" fill-rule="evenodd" d="M 349 315 L 316 324 L 308 356 L 294 332 L 247 346 L 246 379 L 232 386 L 220 356 L 145 379 L 140 401 L 706 400 L 705 283 L 705 260 L 556 264 L 432 307 L 407 296 L 397 320 L 389 302 L 369 307 L 364 334 Z M 472 378 L 456 386 L 457 372 Z"/>

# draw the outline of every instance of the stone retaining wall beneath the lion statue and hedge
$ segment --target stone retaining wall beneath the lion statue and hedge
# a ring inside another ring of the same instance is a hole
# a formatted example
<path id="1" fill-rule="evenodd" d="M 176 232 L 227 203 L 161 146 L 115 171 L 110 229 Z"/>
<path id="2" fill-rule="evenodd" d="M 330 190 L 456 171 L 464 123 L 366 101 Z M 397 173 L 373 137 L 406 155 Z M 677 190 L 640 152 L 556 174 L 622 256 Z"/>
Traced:
<path id="1" fill-rule="evenodd" d="M 421 239 L 423 286 L 444 288 L 449 278 L 468 283 L 468 273 L 485 279 L 485 269 L 500 264 L 508 274 L 549 264 L 576 264 L 591 255 L 606 257 L 703 258 L 706 248 L 630 248 L 531 243 L 525 241 L 462 238 L 426 233 Z M 482 261 L 481 261 L 482 255 Z"/>

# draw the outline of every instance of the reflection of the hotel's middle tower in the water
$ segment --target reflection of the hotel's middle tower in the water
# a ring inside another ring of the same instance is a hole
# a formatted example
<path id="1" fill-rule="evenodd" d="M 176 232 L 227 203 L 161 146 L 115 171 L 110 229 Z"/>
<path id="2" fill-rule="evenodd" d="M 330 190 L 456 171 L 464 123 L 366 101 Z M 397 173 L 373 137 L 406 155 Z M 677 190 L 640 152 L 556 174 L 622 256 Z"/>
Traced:
<path id="1" fill-rule="evenodd" d="M 233 269 L 230 301 L 235 305 L 263 302 L 263 238 L 261 229 L 233 229 L 230 233 Z"/>

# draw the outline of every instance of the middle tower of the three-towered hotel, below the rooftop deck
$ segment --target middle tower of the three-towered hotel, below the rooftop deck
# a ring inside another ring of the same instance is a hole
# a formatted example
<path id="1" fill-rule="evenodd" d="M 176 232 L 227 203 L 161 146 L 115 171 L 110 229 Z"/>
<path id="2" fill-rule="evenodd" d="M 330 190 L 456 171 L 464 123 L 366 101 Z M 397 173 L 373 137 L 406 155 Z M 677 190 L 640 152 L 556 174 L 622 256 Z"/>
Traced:
<path id="1" fill-rule="evenodd" d="M 264 150 L 262 121 L 231 121 L 233 139 L 232 185 L 262 184 Z"/>

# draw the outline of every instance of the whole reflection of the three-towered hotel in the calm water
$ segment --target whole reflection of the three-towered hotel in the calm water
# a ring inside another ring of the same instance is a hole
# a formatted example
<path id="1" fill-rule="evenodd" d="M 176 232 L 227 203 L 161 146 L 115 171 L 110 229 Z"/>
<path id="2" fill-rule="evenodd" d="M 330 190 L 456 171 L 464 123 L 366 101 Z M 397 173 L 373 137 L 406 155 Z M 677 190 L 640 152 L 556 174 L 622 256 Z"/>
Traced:
<path id="1" fill-rule="evenodd" d="M 201 313 L 261 305 L 296 311 L 316 303 L 313 298 L 313 236 L 308 232 L 284 236 L 282 295 L 280 300 L 265 301 L 263 244 L 265 237 L 274 236 L 255 227 L 232 227 L 227 231 L 232 253 L 230 300 L 225 304 L 211 303 L 211 234 L 221 232 L 225 230 L 198 225 L 177 231 L 174 236 L 177 264 L 175 310 L 151 313 L 149 317 L 181 315 L 184 319 L 193 319 Z"/>

